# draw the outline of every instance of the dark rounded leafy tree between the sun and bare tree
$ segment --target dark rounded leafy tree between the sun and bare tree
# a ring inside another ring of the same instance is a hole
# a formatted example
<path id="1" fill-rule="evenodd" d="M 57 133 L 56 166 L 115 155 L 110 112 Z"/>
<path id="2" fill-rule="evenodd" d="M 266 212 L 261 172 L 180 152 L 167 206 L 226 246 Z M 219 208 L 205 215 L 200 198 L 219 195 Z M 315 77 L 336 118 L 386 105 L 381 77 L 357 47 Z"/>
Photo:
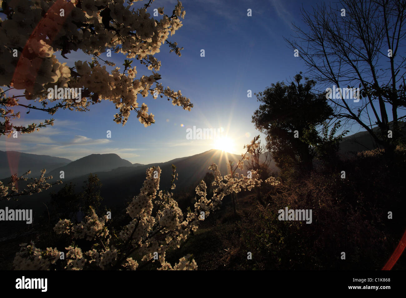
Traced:
<path id="1" fill-rule="evenodd" d="M 311 126 L 322 124 L 333 114 L 325 96 L 312 92 L 316 82 L 304 78 L 301 84 L 301 80 L 299 73 L 289 85 L 277 82 L 255 93 L 261 105 L 254 112 L 252 122 L 266 133 L 266 147 L 281 169 L 312 168 L 313 154 L 302 136 Z"/>

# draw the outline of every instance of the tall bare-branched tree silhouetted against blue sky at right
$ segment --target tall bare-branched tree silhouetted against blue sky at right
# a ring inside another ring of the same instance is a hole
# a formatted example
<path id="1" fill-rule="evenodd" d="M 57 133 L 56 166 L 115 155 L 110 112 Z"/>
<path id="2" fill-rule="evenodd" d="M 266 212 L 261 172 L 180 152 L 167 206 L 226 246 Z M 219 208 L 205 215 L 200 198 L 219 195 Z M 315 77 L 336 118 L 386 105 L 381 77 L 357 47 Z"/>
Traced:
<path id="1" fill-rule="evenodd" d="M 342 0 L 335 7 L 320 4 L 311 13 L 301 11 L 309 31 L 293 25 L 297 35 L 285 40 L 298 50 L 309 76 L 323 87 L 361 91 L 358 102 L 331 96 L 335 117 L 357 122 L 393 152 L 402 137 L 399 120 L 406 117 L 398 116 L 406 107 L 406 0 Z M 372 130 L 376 125 L 380 133 Z"/>

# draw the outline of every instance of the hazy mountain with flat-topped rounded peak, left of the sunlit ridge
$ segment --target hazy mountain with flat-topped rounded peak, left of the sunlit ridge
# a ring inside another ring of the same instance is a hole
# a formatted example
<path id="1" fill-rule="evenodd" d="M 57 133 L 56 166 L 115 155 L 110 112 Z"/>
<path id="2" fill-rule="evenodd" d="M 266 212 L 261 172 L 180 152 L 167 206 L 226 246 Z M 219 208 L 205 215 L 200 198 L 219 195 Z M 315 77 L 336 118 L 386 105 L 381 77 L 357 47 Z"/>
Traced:
<path id="1" fill-rule="evenodd" d="M 87 177 L 89 173 L 108 172 L 117 167 L 133 167 L 133 164 L 114 153 L 91 154 L 58 167 L 49 175 L 54 177 L 53 180 L 59 180 L 60 171 L 64 171 L 65 180 L 71 180 L 79 176 Z"/>

